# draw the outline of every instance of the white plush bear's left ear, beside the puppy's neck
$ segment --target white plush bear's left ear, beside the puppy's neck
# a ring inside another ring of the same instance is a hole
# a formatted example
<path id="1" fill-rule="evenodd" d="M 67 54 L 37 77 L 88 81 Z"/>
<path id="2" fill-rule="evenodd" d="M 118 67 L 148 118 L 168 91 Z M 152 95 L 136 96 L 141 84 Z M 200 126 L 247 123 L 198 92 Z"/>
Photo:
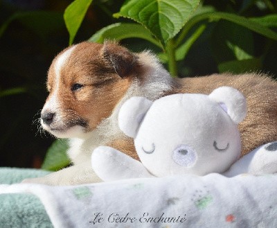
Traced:
<path id="1" fill-rule="evenodd" d="M 141 121 L 143 121 L 152 103 L 151 100 L 139 96 L 129 98 L 129 100 L 122 105 L 118 114 L 118 125 L 120 130 L 128 137 L 136 137 Z"/>

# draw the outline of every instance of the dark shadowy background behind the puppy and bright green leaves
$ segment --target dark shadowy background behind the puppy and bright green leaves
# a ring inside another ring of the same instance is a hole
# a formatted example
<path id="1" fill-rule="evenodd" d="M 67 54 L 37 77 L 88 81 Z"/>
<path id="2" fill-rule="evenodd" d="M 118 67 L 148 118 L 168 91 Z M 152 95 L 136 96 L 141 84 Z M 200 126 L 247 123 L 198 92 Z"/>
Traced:
<path id="1" fill-rule="evenodd" d="M 127 1 L 92 1 L 74 42 L 88 40 L 110 24 L 132 22 L 112 17 L 124 2 Z M 70 3 L 67 0 L 0 1 L 0 166 L 39 168 L 54 141 L 50 135 L 38 131 L 37 119 L 47 96 L 48 67 L 53 57 L 69 44 L 63 14 Z M 244 17 L 276 15 L 277 10 L 274 0 L 207 0 L 204 6 Z M 277 20 L 269 22 L 269 27 L 276 31 Z M 204 25 L 205 29 L 184 60 L 177 62 L 178 76 L 200 76 L 227 69 L 238 72 L 255 69 L 277 76 L 276 41 L 228 21 L 202 21 L 190 30 L 188 37 L 199 25 Z M 157 46 L 141 39 L 121 43 L 132 51 L 161 52 Z M 246 54 L 250 57 L 245 57 Z M 241 58 L 256 62 L 251 62 L 249 67 L 244 62 L 239 67 L 236 62 Z M 231 64 L 224 64 L 230 61 Z"/>

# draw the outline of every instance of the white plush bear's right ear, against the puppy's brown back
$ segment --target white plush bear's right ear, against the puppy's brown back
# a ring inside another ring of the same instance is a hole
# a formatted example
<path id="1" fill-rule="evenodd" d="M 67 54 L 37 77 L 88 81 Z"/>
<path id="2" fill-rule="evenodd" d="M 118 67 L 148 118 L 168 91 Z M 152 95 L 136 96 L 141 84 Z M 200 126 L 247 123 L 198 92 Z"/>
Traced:
<path id="1" fill-rule="evenodd" d="M 219 87 L 208 96 L 215 100 L 235 123 L 243 121 L 247 114 L 247 101 L 243 94 L 232 87 Z"/>

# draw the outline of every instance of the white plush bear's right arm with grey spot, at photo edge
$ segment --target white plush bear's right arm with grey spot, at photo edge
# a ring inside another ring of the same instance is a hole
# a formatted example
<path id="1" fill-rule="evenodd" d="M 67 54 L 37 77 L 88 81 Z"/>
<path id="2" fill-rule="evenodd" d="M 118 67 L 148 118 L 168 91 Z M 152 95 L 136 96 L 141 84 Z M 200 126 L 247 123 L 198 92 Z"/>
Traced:
<path id="1" fill-rule="evenodd" d="M 241 173 L 255 175 L 277 173 L 277 141 L 267 143 L 244 155 L 224 175 L 233 177 Z"/>

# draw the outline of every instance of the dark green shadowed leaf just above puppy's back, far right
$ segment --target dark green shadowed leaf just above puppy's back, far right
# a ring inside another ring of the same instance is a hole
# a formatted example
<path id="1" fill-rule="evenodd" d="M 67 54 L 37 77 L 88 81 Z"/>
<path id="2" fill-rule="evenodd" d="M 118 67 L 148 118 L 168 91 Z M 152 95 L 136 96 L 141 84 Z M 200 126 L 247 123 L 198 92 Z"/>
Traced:
<path id="1" fill-rule="evenodd" d="M 234 60 L 229 62 L 223 62 L 218 65 L 220 73 L 245 73 L 250 71 L 260 71 L 261 68 L 261 58 L 253 58 L 250 60 Z"/>

